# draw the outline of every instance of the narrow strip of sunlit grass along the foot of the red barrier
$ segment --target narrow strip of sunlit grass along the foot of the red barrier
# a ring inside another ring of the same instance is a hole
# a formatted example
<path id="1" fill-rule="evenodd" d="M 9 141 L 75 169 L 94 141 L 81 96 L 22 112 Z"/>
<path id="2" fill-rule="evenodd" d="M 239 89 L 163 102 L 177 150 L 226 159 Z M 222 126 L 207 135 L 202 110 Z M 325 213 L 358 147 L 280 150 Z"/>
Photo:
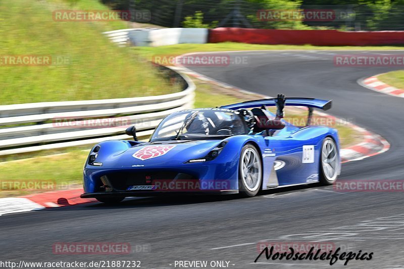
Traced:
<path id="1" fill-rule="evenodd" d="M 232 51 L 232 50 L 400 50 L 404 46 L 313 46 L 313 45 L 260 45 L 234 42 L 210 44 L 178 44 L 160 47 L 132 47 L 140 55 L 151 59 L 155 55 L 178 56 L 198 51 Z"/>

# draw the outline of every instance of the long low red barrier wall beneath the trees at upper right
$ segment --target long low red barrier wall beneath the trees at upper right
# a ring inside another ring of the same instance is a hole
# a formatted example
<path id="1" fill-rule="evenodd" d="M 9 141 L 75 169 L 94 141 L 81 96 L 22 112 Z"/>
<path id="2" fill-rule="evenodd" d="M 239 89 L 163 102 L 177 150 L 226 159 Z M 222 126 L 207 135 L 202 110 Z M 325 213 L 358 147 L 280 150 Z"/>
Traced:
<path id="1" fill-rule="evenodd" d="M 275 30 L 216 28 L 209 31 L 209 43 L 290 44 L 316 46 L 402 45 L 404 31 L 340 32 L 337 30 Z"/>

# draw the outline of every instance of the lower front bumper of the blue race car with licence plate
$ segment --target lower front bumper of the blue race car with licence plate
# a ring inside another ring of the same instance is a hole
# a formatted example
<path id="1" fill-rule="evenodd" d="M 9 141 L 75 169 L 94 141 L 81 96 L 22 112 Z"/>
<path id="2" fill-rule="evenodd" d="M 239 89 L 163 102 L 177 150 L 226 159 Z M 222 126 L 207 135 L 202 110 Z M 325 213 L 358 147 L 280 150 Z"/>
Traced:
<path id="1" fill-rule="evenodd" d="M 238 192 L 237 169 L 223 165 L 165 168 L 84 169 L 82 198 Z"/>

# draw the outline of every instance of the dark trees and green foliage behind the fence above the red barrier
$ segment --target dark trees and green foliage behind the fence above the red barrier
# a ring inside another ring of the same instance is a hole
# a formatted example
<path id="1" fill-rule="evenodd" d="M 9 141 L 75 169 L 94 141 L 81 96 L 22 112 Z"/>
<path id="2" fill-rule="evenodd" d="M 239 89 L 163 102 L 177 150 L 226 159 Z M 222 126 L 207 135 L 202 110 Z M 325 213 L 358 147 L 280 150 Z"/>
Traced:
<path id="1" fill-rule="evenodd" d="M 79 0 L 80 1 L 80 0 Z M 100 0 L 114 9 L 128 9 L 133 1 L 136 9 L 149 10 L 151 24 L 165 27 L 195 27 L 196 12 L 204 15 L 201 27 L 245 27 L 245 21 L 234 16 L 238 11 L 253 28 L 269 29 L 341 29 L 404 30 L 404 0 Z M 349 19 L 335 21 L 263 21 L 260 10 L 336 9 L 352 12 Z M 314 7 L 314 8 L 313 8 Z M 178 16 L 178 18 L 177 18 Z"/>

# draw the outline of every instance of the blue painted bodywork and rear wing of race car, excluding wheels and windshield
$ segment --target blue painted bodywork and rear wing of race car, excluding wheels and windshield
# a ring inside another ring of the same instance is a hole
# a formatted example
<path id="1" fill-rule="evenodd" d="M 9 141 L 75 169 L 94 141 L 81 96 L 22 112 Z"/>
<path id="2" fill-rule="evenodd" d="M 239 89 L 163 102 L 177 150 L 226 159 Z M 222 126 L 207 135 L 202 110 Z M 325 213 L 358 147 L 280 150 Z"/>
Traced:
<path id="1" fill-rule="evenodd" d="M 289 100 L 289 99 L 288 99 Z M 330 101 L 309 98 L 293 98 L 285 105 L 306 105 L 318 109 L 328 109 Z M 275 105 L 271 99 L 249 101 L 239 104 L 223 106 L 224 109 L 239 107 L 257 107 L 258 105 Z M 339 150 L 337 130 L 325 126 L 296 127 L 285 122 L 285 128 L 275 132 L 273 136 L 261 133 L 250 135 L 235 135 L 223 140 L 190 140 L 160 142 L 163 145 L 174 145 L 167 153 L 149 159 L 138 159 L 134 154 L 142 148 L 156 145 L 150 142 L 135 142 L 128 140 L 110 140 L 98 143 L 96 161 L 102 166 L 89 165 L 88 159 L 84 166 L 84 194 L 83 198 L 102 195 L 100 186 L 103 176 L 114 175 L 115 178 L 127 175 L 148 175 L 161 171 L 163 174 L 181 173 L 192 175 L 199 182 L 212 180 L 227 180 L 227 190 L 232 193 L 238 191 L 239 158 L 242 148 L 246 144 L 257 147 L 262 156 L 263 184 L 262 189 L 295 184 L 314 183 L 319 181 L 320 152 L 323 140 L 331 137 L 335 140 Z M 207 162 L 187 163 L 189 160 L 204 158 L 222 141 L 227 144 L 218 156 Z M 314 162 L 303 163 L 303 147 L 314 146 Z M 95 146 L 91 149 L 94 150 Z M 90 153 L 91 154 L 91 153 Z M 281 164 L 281 168 L 274 172 L 274 165 Z M 339 167 L 340 169 L 340 167 Z M 131 174 L 132 173 L 132 174 Z M 277 181 L 271 180 L 276 173 Z M 121 175 L 121 176 L 120 176 Z M 113 184 L 114 185 L 114 184 Z M 203 186 L 201 184 L 201 186 Z M 221 190 L 222 191 L 222 190 Z M 110 195 L 114 195 L 110 192 Z M 149 192 L 148 196 L 152 196 Z M 108 193 L 105 193 L 106 195 Z M 127 191 L 123 187 L 119 195 L 138 196 L 140 192 Z M 157 194 L 157 193 L 156 193 Z M 141 195 L 140 195 L 141 196 Z"/>

